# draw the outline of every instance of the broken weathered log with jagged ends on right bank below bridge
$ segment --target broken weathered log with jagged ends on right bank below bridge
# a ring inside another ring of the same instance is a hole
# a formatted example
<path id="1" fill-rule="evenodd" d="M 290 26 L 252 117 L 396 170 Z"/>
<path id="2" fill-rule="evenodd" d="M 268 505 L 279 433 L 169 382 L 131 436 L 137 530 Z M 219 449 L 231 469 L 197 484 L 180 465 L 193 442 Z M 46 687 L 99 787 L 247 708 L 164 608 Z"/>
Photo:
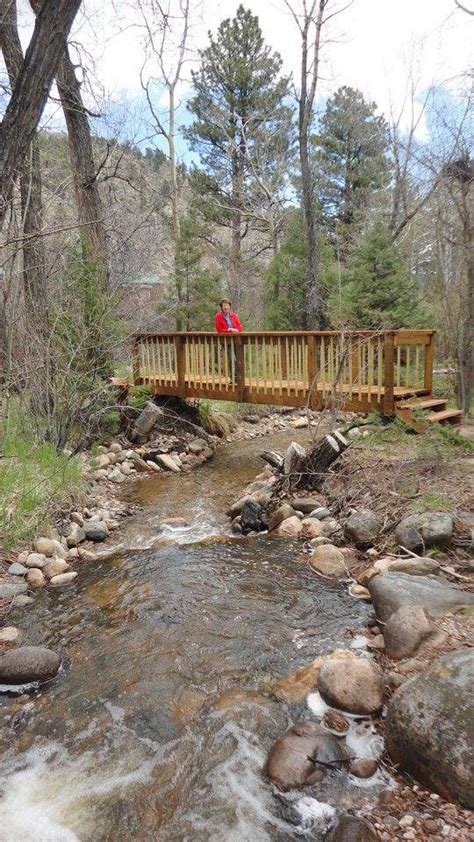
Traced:
<path id="1" fill-rule="evenodd" d="M 293 441 L 283 457 L 273 450 L 264 451 L 261 457 L 273 468 L 277 468 L 282 474 L 281 480 L 286 480 L 293 488 L 316 489 L 323 483 L 331 465 L 348 447 L 349 442 L 342 433 L 333 430 L 308 451 Z"/>

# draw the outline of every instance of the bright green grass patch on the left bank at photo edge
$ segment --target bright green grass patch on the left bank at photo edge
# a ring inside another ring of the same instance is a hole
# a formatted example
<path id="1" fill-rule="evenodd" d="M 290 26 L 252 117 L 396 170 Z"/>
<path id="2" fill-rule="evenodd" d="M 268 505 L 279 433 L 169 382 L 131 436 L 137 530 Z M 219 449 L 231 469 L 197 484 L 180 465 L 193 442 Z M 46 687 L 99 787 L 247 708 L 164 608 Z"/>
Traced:
<path id="1" fill-rule="evenodd" d="M 10 413 L 0 459 L 0 543 L 11 549 L 48 528 L 52 514 L 83 492 L 79 460 L 38 443 L 33 419 Z"/>

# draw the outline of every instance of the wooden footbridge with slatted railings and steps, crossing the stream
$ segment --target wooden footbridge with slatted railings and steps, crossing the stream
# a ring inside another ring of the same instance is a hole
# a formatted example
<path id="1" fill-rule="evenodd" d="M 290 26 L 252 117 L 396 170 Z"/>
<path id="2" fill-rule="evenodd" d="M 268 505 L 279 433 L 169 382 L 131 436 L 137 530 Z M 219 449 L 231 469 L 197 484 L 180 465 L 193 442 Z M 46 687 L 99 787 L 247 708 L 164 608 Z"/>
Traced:
<path id="1" fill-rule="evenodd" d="M 135 384 L 155 395 L 339 407 L 457 424 L 432 396 L 433 330 L 139 333 Z M 416 413 L 415 413 L 416 418 Z"/>

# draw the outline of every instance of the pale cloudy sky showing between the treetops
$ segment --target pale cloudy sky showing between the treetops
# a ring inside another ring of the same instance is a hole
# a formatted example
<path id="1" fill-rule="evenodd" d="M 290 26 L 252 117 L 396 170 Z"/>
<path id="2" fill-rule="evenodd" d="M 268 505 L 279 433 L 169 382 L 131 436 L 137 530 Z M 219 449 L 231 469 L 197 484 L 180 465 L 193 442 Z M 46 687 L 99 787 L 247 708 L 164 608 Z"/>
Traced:
<path id="1" fill-rule="evenodd" d="M 344 0 L 331 2 L 336 8 L 345 5 Z M 474 0 L 463 2 L 474 10 Z M 192 0 L 193 50 L 187 78 L 180 88 L 183 101 L 191 89 L 193 58 L 206 45 L 208 30 L 215 32 L 223 18 L 235 14 L 238 4 L 238 0 Z M 244 5 L 258 15 L 266 41 L 283 59 L 284 72 L 297 80 L 298 32 L 284 0 L 246 0 Z M 31 34 L 26 0 L 19 0 L 19 13 L 21 36 L 26 44 Z M 473 65 L 473 30 L 474 17 L 458 9 L 455 0 L 353 0 L 331 24 L 330 41 L 323 50 L 319 101 L 323 102 L 340 85 L 350 85 L 374 100 L 388 117 L 390 109 L 400 108 L 405 99 L 410 66 L 420 100 L 423 91 L 433 83 L 456 94 L 466 86 L 463 74 Z M 96 107 L 107 113 L 109 122 L 115 124 L 112 128 L 121 126 L 125 131 L 125 112 L 133 111 L 133 118 L 128 118 L 129 131 L 139 140 L 148 137 L 140 86 L 143 29 L 135 0 L 84 0 L 71 39 L 81 45 L 83 61 L 90 68 L 90 96 L 96 100 Z M 57 106 L 50 104 L 43 122 L 55 126 L 58 120 Z M 420 135 L 424 131 L 426 126 L 421 121 Z M 186 155 L 182 141 L 178 143 L 178 153 L 181 157 Z"/>

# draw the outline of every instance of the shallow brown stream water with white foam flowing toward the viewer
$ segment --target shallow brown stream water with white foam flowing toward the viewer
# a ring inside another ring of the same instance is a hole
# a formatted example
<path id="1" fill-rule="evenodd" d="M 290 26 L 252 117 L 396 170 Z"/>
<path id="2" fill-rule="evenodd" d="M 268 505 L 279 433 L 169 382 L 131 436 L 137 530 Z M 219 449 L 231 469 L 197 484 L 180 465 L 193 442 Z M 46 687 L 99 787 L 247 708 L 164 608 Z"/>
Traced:
<path id="1" fill-rule="evenodd" d="M 265 688 L 347 646 L 368 611 L 291 544 L 225 535 L 263 448 L 235 443 L 191 474 L 130 484 L 144 509 L 122 531 L 142 548 L 83 564 L 77 585 L 12 619 L 65 665 L 39 692 L 2 698 L 1 842 L 320 839 L 334 807 L 367 796 L 343 773 L 286 796 L 261 775 L 273 740 L 318 705 Z M 177 515 L 190 526 L 160 533 Z M 146 549 L 158 534 L 173 540 Z"/>

